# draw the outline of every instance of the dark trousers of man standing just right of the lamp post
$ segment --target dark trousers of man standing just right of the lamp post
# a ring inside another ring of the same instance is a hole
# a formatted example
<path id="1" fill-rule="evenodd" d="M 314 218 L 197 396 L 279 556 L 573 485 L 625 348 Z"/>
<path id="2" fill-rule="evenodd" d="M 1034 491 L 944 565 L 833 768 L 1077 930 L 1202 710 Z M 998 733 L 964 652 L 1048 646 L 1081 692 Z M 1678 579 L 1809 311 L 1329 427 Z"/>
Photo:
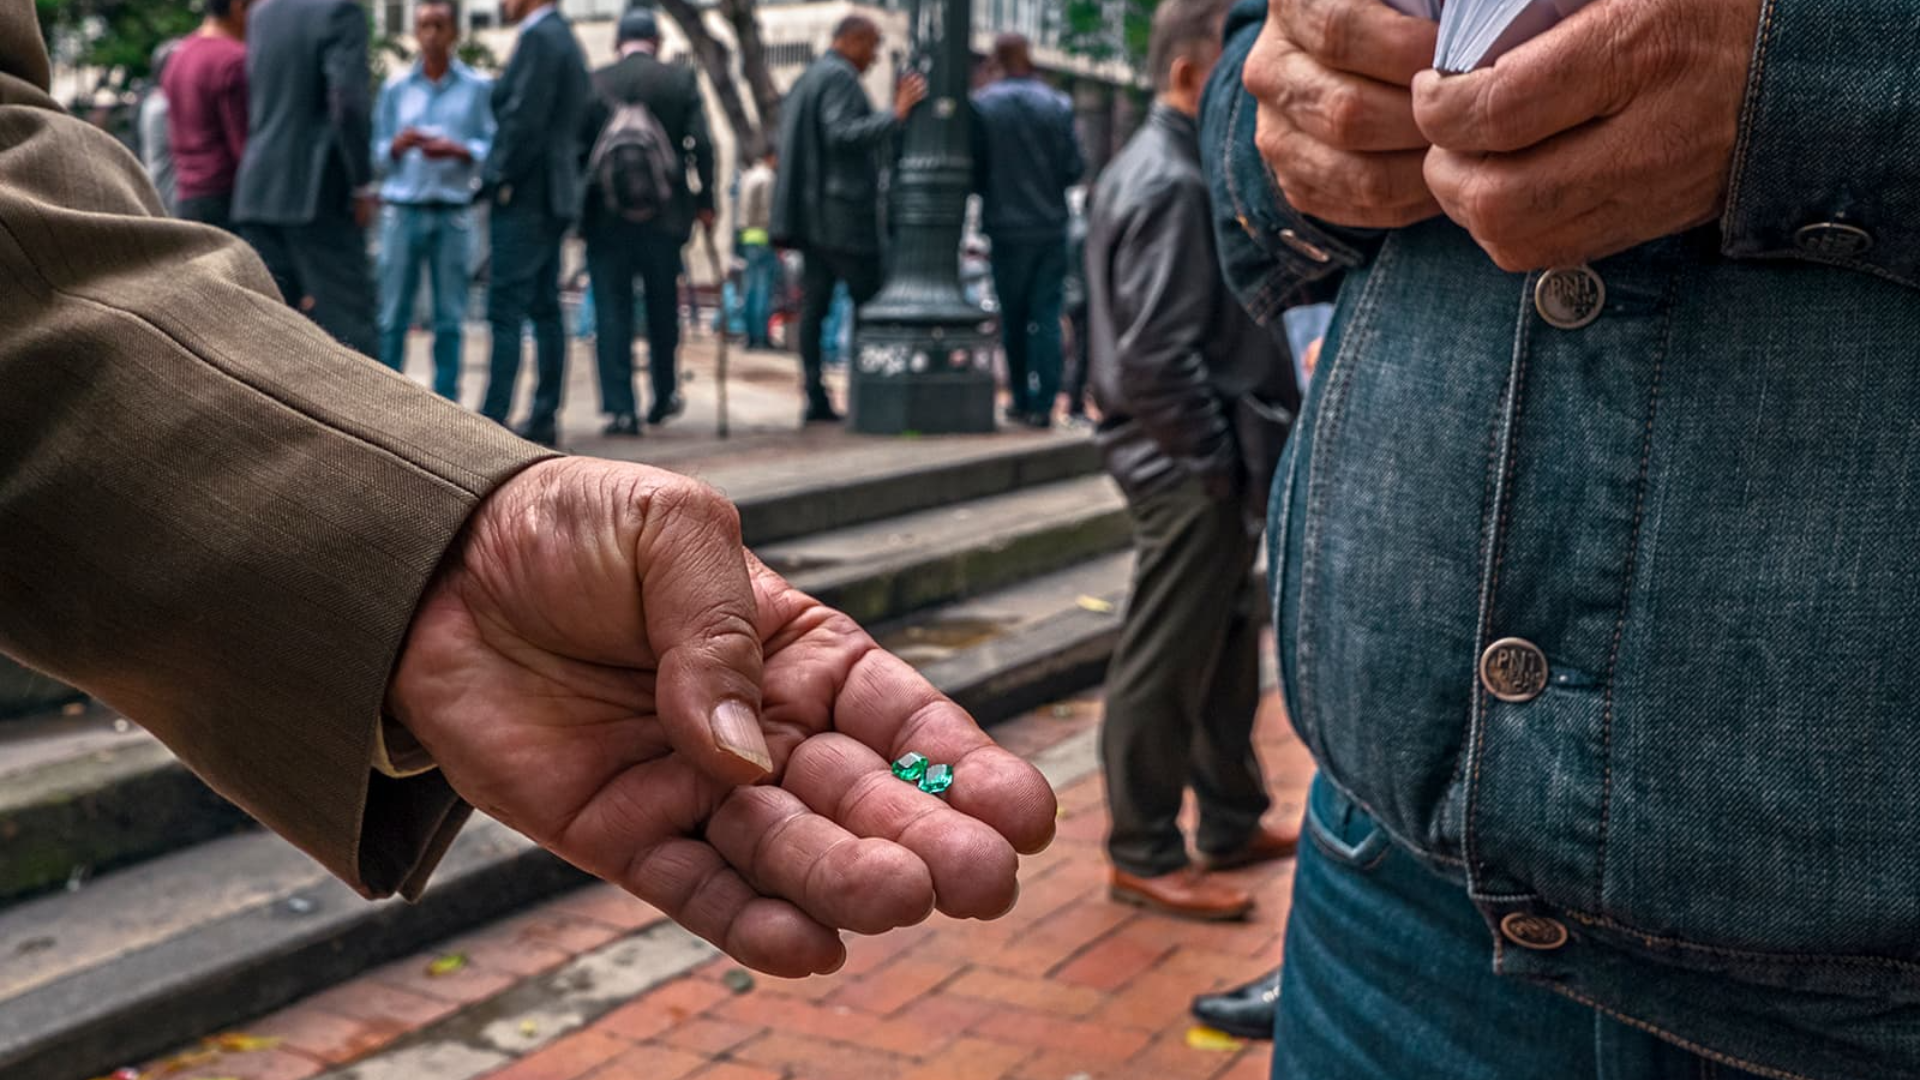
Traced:
<path id="1" fill-rule="evenodd" d="M 1052 415 L 1060 396 L 1060 307 L 1068 240 L 996 240 L 993 290 L 1000 298 L 1006 392 L 1014 411 Z"/>

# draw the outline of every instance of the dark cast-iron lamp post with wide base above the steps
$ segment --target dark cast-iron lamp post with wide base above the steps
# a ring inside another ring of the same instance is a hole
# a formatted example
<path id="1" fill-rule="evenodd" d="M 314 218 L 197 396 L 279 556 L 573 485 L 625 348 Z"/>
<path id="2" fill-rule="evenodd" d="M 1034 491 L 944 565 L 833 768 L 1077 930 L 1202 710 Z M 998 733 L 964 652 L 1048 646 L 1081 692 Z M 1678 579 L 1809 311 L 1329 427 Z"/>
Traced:
<path id="1" fill-rule="evenodd" d="M 972 0 L 916 0 L 910 69 L 927 100 L 906 119 L 893 173 L 893 265 L 860 309 L 849 425 L 866 434 L 991 432 L 993 315 L 960 286 L 973 186 Z"/>

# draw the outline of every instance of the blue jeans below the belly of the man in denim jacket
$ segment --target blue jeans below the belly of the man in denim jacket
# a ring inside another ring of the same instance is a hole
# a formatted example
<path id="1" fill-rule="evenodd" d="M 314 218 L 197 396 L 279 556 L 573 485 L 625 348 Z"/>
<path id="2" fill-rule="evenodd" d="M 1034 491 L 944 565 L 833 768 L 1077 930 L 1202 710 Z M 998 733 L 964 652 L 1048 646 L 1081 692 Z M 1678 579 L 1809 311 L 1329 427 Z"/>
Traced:
<path id="1" fill-rule="evenodd" d="M 1757 1080 L 1494 974 L 1498 934 L 1465 882 L 1394 844 L 1325 776 L 1304 832 L 1273 1080 Z"/>

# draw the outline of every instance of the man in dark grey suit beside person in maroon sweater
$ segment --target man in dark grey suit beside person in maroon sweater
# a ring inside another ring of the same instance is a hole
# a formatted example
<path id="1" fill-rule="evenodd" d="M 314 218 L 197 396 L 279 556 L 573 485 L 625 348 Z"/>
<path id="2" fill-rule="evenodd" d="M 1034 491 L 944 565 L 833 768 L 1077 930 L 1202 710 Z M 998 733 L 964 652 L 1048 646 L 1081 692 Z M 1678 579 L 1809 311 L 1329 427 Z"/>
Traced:
<path id="1" fill-rule="evenodd" d="M 265 0 L 248 13 L 248 138 L 232 221 L 288 304 L 365 356 L 374 331 L 367 223 L 372 138 L 367 10 Z"/>

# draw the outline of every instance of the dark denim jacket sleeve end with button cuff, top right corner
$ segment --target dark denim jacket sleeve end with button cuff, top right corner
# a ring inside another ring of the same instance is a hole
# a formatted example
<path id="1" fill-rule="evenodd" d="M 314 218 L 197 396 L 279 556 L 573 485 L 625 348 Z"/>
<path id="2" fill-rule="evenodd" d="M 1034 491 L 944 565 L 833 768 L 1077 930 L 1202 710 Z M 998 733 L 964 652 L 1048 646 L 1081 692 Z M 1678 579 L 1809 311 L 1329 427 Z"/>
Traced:
<path id="1" fill-rule="evenodd" d="M 1720 219 L 1732 258 L 1920 286 L 1910 0 L 1763 0 Z"/>

